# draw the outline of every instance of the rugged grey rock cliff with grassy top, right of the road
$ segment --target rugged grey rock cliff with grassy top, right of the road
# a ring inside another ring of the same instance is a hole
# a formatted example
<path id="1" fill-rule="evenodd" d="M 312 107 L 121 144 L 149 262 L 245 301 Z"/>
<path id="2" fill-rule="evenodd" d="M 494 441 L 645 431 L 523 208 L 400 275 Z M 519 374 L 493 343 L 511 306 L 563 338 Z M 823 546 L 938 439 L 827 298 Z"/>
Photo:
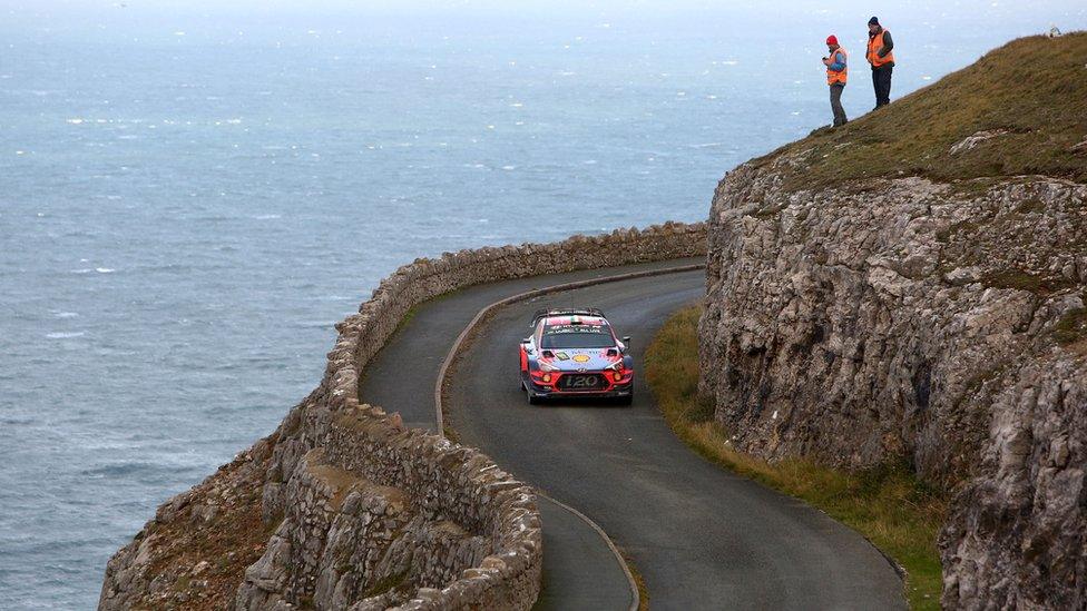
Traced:
<path id="1" fill-rule="evenodd" d="M 904 459 L 952 492 L 947 608 L 1087 605 L 1085 57 L 1012 42 L 714 196 L 716 420 L 768 460 Z"/>

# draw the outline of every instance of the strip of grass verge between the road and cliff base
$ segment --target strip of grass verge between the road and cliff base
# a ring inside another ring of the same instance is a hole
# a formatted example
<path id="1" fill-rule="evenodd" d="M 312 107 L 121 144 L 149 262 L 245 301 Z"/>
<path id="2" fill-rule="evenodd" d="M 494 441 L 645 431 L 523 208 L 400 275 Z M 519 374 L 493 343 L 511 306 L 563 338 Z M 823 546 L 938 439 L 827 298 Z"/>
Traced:
<path id="1" fill-rule="evenodd" d="M 944 496 L 919 482 L 903 463 L 846 473 L 804 459 L 767 463 L 737 452 L 698 400 L 697 326 L 701 308 L 672 317 L 646 352 L 646 380 L 665 420 L 703 457 L 801 499 L 852 526 L 907 572 L 912 609 L 939 609 L 942 584 L 937 533 Z"/>

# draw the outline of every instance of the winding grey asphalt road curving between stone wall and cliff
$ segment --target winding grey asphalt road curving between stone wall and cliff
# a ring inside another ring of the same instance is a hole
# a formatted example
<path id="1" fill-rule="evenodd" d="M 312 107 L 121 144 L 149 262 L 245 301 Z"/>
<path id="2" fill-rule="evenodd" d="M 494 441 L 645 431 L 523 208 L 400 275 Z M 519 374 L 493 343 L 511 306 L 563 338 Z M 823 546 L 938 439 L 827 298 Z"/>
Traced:
<path id="1" fill-rule="evenodd" d="M 493 283 L 420 306 L 368 367 L 361 398 L 435 427 L 438 372 L 457 336 L 489 304 L 532 288 L 691 264 L 663 262 Z M 539 307 L 600 307 L 634 336 L 636 367 L 669 314 L 704 294 L 703 270 L 589 286 L 498 309 L 449 371 L 445 408 L 468 445 L 599 524 L 643 574 L 654 609 L 901 609 L 902 582 L 856 532 L 732 475 L 688 450 L 640 382 L 630 407 L 530 406 L 517 343 Z M 607 540 L 541 497 L 540 609 L 628 609 L 629 581 Z"/>

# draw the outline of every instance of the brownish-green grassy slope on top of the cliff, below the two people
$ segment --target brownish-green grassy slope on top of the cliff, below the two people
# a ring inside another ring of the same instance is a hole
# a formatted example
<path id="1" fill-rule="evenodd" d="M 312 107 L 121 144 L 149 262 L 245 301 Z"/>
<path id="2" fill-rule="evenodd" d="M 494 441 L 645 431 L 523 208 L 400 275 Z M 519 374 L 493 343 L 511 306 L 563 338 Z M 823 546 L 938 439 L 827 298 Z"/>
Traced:
<path id="1" fill-rule="evenodd" d="M 843 128 L 821 129 L 756 159 L 809 151 L 790 189 L 923 176 L 938 181 L 1039 174 L 1087 183 L 1087 32 L 1013 40 L 930 87 Z M 863 75 L 860 75 L 863 76 Z M 864 82 L 854 79 L 852 88 Z M 1008 134 L 951 155 L 964 138 Z"/>

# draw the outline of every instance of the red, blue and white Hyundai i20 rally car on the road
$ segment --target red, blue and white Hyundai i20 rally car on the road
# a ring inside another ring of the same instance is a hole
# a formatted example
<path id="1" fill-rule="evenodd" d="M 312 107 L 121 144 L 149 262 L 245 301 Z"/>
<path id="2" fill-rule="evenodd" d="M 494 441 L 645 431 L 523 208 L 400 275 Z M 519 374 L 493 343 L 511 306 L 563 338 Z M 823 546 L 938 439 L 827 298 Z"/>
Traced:
<path id="1" fill-rule="evenodd" d="M 616 337 L 596 308 L 541 309 L 532 335 L 521 341 L 521 388 L 529 403 L 550 397 L 615 397 L 634 401 L 629 337 Z"/>

